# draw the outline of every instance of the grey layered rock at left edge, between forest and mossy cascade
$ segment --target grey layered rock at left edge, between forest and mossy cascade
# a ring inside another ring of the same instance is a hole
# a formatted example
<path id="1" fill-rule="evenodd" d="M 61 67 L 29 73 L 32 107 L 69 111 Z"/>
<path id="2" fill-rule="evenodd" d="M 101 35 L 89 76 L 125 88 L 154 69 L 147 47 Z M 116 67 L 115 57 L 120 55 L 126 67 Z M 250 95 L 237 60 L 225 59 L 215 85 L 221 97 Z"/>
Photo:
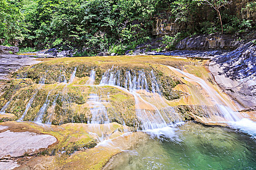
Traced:
<path id="1" fill-rule="evenodd" d="M 8 80 L 11 72 L 17 71 L 21 67 L 31 66 L 40 63 L 35 58 L 14 55 L 14 54 L 0 54 L 0 80 Z"/>

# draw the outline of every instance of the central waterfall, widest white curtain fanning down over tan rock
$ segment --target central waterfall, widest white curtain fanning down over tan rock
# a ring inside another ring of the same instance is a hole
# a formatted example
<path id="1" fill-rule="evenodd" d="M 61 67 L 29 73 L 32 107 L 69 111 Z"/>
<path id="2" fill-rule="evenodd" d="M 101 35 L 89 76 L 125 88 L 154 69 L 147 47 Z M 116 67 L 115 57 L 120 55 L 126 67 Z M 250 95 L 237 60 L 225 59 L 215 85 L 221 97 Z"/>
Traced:
<path id="1" fill-rule="evenodd" d="M 153 70 L 150 72 L 151 91 L 149 91 L 149 81 L 147 81 L 146 73 L 143 69 L 138 72 L 135 72 L 135 70 L 127 70 L 124 85 L 121 84 L 120 72 L 121 70 L 118 68 L 112 67 L 108 69 L 103 74 L 100 85 L 110 85 L 133 95 L 135 99 L 136 115 L 142 123 L 142 130 L 167 127 L 168 124 L 171 123 L 171 120 L 166 116 L 167 112 L 171 112 L 171 115 L 175 115 L 176 122 L 182 121 L 177 114 L 175 114 L 174 109 L 162 99 L 160 87 Z M 141 96 L 138 92 L 139 90 L 143 90 L 151 95 L 151 97 L 147 97 L 149 98 L 148 101 Z M 159 110 L 156 105 L 153 104 L 154 102 L 161 103 L 160 105 L 165 106 L 165 109 Z M 148 108 L 143 108 L 143 105 L 146 105 Z"/>

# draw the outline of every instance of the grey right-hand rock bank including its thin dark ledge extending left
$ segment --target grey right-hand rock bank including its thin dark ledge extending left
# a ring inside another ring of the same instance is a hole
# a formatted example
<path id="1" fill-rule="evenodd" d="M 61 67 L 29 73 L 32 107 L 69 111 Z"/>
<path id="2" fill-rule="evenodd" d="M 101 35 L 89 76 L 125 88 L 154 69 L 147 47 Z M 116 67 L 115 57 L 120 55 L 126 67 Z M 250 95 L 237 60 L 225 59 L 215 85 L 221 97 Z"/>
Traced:
<path id="1" fill-rule="evenodd" d="M 224 92 L 235 99 L 241 109 L 256 110 L 256 43 L 252 40 L 237 46 L 233 51 L 175 50 L 145 54 L 210 59 L 209 70 Z"/>

